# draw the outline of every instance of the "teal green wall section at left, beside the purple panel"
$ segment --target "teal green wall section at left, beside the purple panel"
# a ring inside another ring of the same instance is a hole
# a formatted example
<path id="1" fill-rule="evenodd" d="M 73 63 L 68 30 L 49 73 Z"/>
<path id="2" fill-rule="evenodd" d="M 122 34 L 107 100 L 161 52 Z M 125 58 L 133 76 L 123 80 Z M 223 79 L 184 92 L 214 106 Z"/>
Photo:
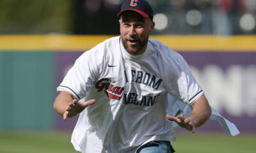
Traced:
<path id="1" fill-rule="evenodd" d="M 0 129 L 51 129 L 54 52 L 0 52 Z"/>

